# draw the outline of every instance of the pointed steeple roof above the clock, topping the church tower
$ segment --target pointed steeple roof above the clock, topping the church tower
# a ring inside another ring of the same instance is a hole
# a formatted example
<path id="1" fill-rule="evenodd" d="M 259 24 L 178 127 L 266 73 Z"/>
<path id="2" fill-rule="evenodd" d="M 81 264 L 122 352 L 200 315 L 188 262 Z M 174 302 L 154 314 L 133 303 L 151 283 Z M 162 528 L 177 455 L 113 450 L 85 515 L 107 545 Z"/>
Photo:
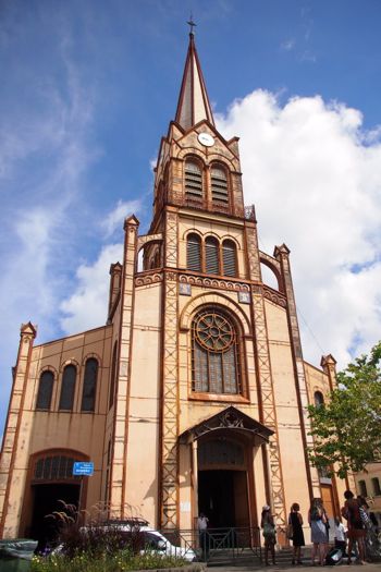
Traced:
<path id="1" fill-rule="evenodd" d="M 213 114 L 211 111 L 200 62 L 197 56 L 195 37 L 190 32 L 189 47 L 186 54 L 175 121 L 184 130 L 188 130 L 204 119 L 207 119 L 212 125 L 214 125 Z"/>

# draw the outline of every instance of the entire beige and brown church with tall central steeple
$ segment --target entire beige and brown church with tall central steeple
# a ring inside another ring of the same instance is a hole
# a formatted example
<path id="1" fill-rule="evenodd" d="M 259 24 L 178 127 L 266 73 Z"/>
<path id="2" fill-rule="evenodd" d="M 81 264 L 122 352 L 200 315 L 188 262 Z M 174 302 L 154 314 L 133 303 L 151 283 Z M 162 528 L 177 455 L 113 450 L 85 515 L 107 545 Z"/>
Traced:
<path id="1" fill-rule="evenodd" d="M 339 515 L 353 483 L 310 465 L 306 412 L 334 387 L 335 361 L 303 358 L 290 250 L 258 247 L 238 137 L 216 129 L 193 32 L 150 228 L 125 219 L 105 304 L 106 325 L 48 343 L 21 327 L 0 537 L 39 538 L 58 499 L 162 530 L 192 530 L 200 512 L 256 527 L 270 504 L 281 545 L 293 502 L 305 522 L 314 497 Z M 94 474 L 73 474 L 77 462 Z"/>

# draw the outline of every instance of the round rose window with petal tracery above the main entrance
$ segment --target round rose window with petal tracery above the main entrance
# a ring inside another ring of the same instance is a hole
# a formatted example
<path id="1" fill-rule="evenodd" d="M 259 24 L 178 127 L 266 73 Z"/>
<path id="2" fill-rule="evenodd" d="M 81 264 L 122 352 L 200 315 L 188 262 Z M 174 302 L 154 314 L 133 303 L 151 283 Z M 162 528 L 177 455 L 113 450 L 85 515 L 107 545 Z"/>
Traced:
<path id="1" fill-rule="evenodd" d="M 224 352 L 234 341 L 234 329 L 221 314 L 202 314 L 195 326 L 197 341 L 207 350 Z"/>

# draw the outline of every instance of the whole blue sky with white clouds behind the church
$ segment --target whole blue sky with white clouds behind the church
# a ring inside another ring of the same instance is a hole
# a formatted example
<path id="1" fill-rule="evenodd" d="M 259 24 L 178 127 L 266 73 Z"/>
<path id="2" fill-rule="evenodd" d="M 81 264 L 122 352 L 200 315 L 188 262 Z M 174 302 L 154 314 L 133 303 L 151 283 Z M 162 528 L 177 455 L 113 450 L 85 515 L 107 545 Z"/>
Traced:
<path id="1" fill-rule="evenodd" d="M 149 223 L 190 10 L 260 247 L 292 251 L 306 358 L 378 341 L 378 0 L 2 0 L 0 425 L 22 322 L 37 343 L 105 322 L 123 218 Z"/>

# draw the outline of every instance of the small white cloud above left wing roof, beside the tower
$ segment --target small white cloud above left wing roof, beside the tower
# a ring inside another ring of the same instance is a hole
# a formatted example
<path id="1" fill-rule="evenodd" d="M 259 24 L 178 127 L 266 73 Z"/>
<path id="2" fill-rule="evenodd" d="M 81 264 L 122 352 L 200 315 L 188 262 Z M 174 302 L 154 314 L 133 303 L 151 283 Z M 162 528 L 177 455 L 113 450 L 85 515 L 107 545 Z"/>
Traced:
<path id="1" fill-rule="evenodd" d="M 106 324 L 109 299 L 109 268 L 122 263 L 123 245 L 103 246 L 93 265 L 81 265 L 76 271 L 78 285 L 70 299 L 61 303 L 65 317 L 61 320 L 66 333 L 75 333 Z"/>

